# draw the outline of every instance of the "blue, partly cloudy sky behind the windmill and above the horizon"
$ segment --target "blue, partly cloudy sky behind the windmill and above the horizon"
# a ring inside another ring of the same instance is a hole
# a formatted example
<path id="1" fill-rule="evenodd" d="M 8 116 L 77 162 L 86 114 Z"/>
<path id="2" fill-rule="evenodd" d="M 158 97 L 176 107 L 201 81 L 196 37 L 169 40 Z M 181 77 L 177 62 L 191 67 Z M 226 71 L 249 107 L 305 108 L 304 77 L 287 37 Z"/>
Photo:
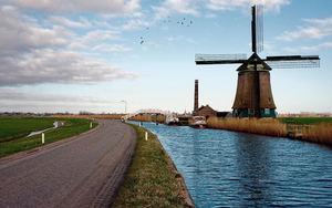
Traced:
<path id="1" fill-rule="evenodd" d="M 0 0 L 0 112 L 231 111 L 239 64 L 195 54 L 251 52 L 262 4 L 263 51 L 319 55 L 320 67 L 273 69 L 277 112 L 332 112 L 331 0 Z"/>

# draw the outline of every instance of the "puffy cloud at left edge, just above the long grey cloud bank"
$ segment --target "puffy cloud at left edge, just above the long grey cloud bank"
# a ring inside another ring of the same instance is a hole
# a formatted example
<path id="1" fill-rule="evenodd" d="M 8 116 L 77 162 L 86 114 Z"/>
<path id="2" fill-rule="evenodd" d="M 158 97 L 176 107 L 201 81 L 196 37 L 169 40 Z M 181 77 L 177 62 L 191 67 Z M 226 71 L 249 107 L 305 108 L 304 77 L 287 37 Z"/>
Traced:
<path id="1" fill-rule="evenodd" d="M 34 19 L 20 14 L 13 7 L 0 8 L 0 56 L 17 55 L 37 48 L 62 46 L 75 35 L 59 25 L 41 28 Z"/>

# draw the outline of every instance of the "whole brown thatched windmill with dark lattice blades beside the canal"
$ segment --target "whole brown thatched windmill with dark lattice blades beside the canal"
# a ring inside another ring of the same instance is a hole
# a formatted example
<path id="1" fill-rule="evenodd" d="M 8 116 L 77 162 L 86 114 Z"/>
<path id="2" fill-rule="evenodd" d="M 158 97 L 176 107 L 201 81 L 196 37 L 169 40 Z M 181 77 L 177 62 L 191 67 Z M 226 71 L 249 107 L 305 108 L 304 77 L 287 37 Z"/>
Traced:
<path id="1" fill-rule="evenodd" d="M 251 20 L 252 55 L 246 54 L 196 54 L 195 62 L 201 64 L 241 64 L 238 71 L 237 94 L 232 105 L 234 117 L 276 117 L 276 104 L 270 84 L 270 71 L 274 69 L 319 67 L 318 55 L 284 55 L 260 59 L 263 50 L 262 6 L 253 6 Z"/>

